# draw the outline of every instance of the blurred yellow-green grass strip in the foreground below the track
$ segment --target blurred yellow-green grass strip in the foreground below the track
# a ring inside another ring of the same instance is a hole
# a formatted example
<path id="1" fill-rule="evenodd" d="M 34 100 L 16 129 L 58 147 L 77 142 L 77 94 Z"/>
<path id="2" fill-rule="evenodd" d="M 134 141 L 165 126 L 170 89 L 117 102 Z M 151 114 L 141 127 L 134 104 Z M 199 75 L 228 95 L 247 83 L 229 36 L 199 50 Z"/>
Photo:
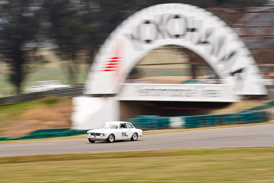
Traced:
<path id="1" fill-rule="evenodd" d="M 274 182 L 273 153 L 266 147 L 0 158 L 0 182 Z"/>

